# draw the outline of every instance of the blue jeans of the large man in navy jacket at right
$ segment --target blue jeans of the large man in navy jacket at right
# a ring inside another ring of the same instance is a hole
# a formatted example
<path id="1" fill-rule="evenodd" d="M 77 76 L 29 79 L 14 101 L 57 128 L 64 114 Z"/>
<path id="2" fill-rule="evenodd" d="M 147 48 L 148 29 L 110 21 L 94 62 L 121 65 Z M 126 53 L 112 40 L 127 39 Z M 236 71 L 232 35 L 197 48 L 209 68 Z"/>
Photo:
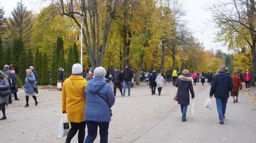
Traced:
<path id="1" fill-rule="evenodd" d="M 224 120 L 224 115 L 226 113 L 227 99 L 228 98 L 216 98 L 216 105 L 219 113 L 219 120 L 221 121 Z"/>

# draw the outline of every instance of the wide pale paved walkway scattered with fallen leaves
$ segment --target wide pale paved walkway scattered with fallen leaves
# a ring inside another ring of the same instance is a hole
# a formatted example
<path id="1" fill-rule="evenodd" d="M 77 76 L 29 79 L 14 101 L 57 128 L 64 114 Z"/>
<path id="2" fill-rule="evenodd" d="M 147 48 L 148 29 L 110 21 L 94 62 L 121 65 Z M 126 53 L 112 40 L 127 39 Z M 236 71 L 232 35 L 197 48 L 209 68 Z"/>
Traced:
<path id="1" fill-rule="evenodd" d="M 195 88 L 195 115 L 187 111 L 187 122 L 181 121 L 180 106 L 173 97 L 177 88 L 167 84 L 162 95 L 151 95 L 148 86 L 131 89 L 131 97 L 116 96 L 109 127 L 109 143 L 253 143 L 256 141 L 256 106 L 244 91 L 239 103 L 227 103 L 224 125 L 219 124 L 215 98 L 212 111 L 204 108 L 210 86 Z M 30 98 L 24 108 L 24 93 L 20 101 L 7 108 L 7 120 L 0 121 L 0 142 L 3 143 L 63 143 L 58 138 L 61 118 L 61 92 L 39 90 L 39 105 Z M 190 108 L 190 106 L 189 106 Z M 2 116 L 2 113 L 0 113 Z M 86 129 L 87 130 L 87 129 Z M 86 131 L 87 134 L 87 131 Z M 77 143 L 74 137 L 72 143 Z M 95 143 L 99 143 L 99 135 Z"/>

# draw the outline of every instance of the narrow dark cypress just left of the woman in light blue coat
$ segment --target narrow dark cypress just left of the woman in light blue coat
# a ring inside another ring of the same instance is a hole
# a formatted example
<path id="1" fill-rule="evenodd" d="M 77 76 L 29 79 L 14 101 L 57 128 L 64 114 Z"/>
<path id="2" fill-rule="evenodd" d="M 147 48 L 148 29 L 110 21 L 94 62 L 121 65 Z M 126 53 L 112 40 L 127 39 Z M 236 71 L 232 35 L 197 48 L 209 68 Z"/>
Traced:
<path id="1" fill-rule="evenodd" d="M 28 69 L 26 62 L 27 62 L 27 54 L 25 51 L 22 51 L 19 57 L 19 77 L 23 85 L 25 83 L 26 70 Z"/>

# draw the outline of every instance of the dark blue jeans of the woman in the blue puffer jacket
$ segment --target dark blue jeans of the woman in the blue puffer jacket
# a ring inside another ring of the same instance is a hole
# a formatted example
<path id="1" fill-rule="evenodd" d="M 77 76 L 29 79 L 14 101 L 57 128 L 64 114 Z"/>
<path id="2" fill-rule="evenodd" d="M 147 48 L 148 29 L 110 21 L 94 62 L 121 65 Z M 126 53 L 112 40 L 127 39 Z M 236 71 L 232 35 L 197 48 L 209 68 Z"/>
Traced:
<path id="1" fill-rule="evenodd" d="M 97 129 L 99 126 L 99 135 L 101 136 L 100 143 L 108 143 L 108 122 L 95 122 L 95 121 L 86 121 L 88 135 L 84 143 L 93 143 L 97 137 Z"/>

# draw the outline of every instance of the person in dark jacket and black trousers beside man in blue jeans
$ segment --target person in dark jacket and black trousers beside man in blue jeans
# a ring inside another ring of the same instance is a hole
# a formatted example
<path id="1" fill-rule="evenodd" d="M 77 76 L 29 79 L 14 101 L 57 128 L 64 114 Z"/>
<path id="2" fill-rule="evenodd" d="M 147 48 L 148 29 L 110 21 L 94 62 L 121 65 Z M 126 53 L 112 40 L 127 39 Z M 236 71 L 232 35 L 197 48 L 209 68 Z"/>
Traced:
<path id="1" fill-rule="evenodd" d="M 123 95 L 122 86 L 121 86 L 121 83 L 123 83 L 122 73 L 121 71 L 118 70 L 118 67 L 114 68 L 112 82 L 114 83 L 114 96 L 116 96 L 116 86 L 118 86 L 121 95 Z"/>

